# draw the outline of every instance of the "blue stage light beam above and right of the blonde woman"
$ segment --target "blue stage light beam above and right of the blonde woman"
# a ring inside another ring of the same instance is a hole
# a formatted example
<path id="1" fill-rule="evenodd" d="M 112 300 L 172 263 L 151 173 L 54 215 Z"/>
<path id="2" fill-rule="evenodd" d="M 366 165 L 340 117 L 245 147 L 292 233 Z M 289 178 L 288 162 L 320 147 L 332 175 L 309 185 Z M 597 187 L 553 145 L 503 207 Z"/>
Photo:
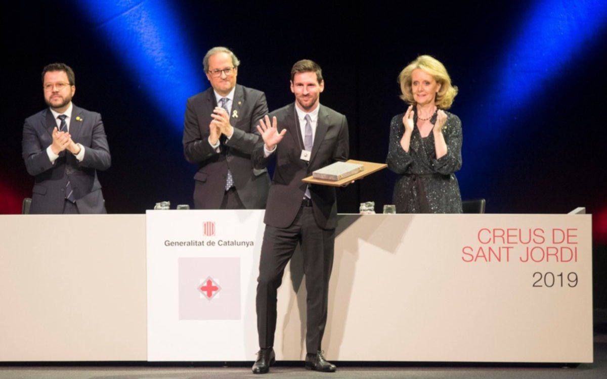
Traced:
<path id="1" fill-rule="evenodd" d="M 538 0 L 513 27 L 510 44 L 486 78 L 487 93 L 480 93 L 475 107 L 461 112 L 465 120 L 464 170 L 458 178 L 464 190 L 483 195 L 496 168 L 503 164 L 519 115 L 532 112 L 537 96 L 561 90 L 558 79 L 577 69 L 575 59 L 603 49 L 607 26 L 605 0 Z M 583 70 L 583 68 L 582 68 Z M 487 152 L 492 152 L 487 154 Z M 470 158 L 470 159 L 468 159 Z M 499 161 L 499 163 L 497 163 Z"/>

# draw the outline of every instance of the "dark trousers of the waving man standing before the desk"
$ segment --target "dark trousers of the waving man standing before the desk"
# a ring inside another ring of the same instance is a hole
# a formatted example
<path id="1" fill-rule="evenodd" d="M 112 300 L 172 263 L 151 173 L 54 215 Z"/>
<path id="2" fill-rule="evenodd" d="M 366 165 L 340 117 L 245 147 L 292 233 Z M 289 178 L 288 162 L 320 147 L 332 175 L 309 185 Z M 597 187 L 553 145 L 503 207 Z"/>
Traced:
<path id="1" fill-rule="evenodd" d="M 257 332 L 259 347 L 274 346 L 277 289 L 285 266 L 301 245 L 307 290 L 306 349 L 316 354 L 327 324 L 329 278 L 333 268 L 335 229 L 324 230 L 314 221 L 312 207 L 302 206 L 287 228 L 266 225 L 257 278 Z"/>

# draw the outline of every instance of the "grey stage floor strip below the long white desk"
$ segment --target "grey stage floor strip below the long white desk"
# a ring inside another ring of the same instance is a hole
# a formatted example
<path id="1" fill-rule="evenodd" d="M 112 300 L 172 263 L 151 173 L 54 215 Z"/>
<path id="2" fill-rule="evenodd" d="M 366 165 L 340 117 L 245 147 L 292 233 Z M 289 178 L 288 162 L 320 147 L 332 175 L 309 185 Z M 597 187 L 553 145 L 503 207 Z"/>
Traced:
<path id="1" fill-rule="evenodd" d="M 607 324 L 598 326 L 599 333 L 594 335 L 594 363 L 580 364 L 577 367 L 531 364 L 432 364 L 432 363 L 392 363 L 390 367 L 356 365 L 354 362 L 337 363 L 337 372 L 321 374 L 306 371 L 303 363 L 278 362 L 271 368 L 269 377 L 273 378 L 319 378 L 327 375 L 331 379 L 357 378 L 461 378 L 461 379 L 510 379 L 510 378 L 587 378 L 603 379 L 607 377 Z M 364 349 L 364 346 L 361 346 Z M 330 357 L 327 357 L 330 358 Z M 262 377 L 251 372 L 251 363 L 246 366 L 228 367 L 158 367 L 154 363 L 141 363 L 141 366 L 8 366 L 0 363 L 0 379 L 232 379 Z"/>

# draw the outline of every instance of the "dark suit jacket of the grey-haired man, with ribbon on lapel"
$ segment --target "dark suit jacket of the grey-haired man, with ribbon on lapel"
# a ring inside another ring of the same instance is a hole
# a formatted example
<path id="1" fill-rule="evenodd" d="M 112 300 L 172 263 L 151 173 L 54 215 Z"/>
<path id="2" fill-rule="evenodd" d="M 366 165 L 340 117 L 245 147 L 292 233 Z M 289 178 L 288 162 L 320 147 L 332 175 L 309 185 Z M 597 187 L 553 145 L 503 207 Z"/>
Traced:
<path id="1" fill-rule="evenodd" d="M 268 113 L 265 95 L 258 90 L 236 85 L 230 115 L 234 134 L 216 152 L 209 144 L 211 114 L 217 106 L 212 88 L 188 99 L 183 124 L 183 152 L 190 163 L 198 164 L 194 175 L 194 206 L 219 209 L 225 193 L 228 167 L 234 186 L 247 209 L 263 209 L 270 187 L 265 167 L 253 169 L 251 152 L 260 139 L 259 120 Z M 236 112 L 236 115 L 235 113 Z"/>

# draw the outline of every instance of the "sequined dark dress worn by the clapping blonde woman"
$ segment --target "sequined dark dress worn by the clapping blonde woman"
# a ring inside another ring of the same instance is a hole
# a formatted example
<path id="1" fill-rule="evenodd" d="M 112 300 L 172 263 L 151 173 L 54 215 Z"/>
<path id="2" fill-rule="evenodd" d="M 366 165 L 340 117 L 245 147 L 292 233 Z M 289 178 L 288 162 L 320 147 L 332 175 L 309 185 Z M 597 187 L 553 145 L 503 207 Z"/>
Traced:
<path id="1" fill-rule="evenodd" d="M 399 175 L 392 197 L 398 213 L 461 213 L 461 195 L 454 174 L 461 168 L 461 121 L 453 113 L 445 113 L 443 136 L 447 154 L 440 159 L 436 159 L 433 133 L 426 138 L 419 133 L 416 113 L 409 152 L 401 147 L 404 113 L 394 116 L 390 122 L 386 163 Z M 430 122 L 435 124 L 436 113 Z"/>

